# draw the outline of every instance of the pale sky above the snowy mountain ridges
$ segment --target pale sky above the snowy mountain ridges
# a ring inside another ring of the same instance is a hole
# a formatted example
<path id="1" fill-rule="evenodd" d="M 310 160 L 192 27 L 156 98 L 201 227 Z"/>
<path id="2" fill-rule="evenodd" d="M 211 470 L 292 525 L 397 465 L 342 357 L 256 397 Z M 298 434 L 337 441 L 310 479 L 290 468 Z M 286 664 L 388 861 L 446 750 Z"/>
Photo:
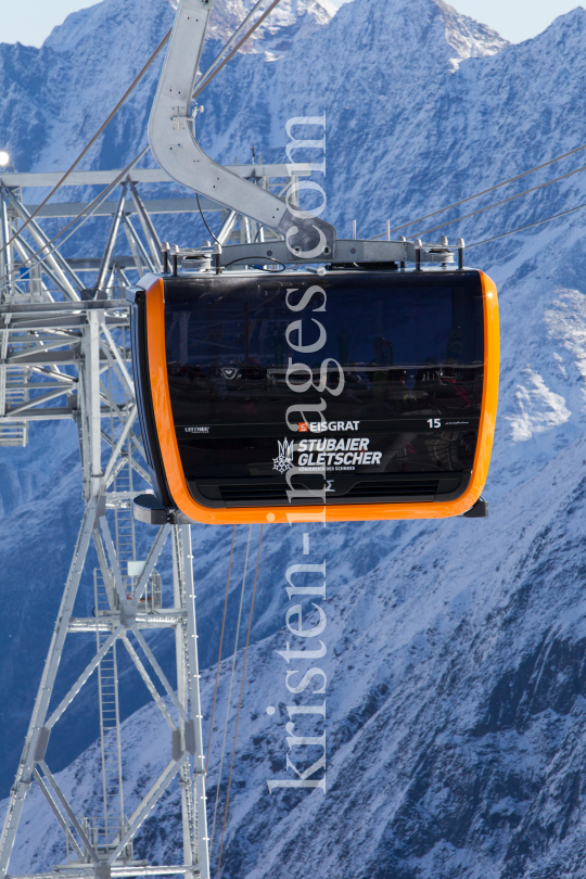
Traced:
<path id="1" fill-rule="evenodd" d="M 69 12 L 95 0 L 0 0 L 0 42 L 40 46 Z M 336 5 L 352 0 L 333 0 Z M 586 3 L 586 0 L 584 0 Z M 579 5 L 576 0 L 454 0 L 458 12 L 487 24 L 510 40 L 537 36 L 553 18 Z"/>

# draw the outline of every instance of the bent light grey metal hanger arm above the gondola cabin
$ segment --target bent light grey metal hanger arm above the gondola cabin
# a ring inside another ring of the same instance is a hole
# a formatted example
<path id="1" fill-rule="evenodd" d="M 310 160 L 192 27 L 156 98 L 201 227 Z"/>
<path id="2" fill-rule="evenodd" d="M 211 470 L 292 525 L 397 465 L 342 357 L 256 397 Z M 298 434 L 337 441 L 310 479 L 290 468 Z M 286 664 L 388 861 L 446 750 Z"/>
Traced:
<path id="1" fill-rule="evenodd" d="M 181 0 L 149 120 L 152 153 L 178 183 L 280 232 L 291 262 L 333 256 L 333 226 L 214 162 L 195 139 L 191 95 L 214 0 Z"/>

